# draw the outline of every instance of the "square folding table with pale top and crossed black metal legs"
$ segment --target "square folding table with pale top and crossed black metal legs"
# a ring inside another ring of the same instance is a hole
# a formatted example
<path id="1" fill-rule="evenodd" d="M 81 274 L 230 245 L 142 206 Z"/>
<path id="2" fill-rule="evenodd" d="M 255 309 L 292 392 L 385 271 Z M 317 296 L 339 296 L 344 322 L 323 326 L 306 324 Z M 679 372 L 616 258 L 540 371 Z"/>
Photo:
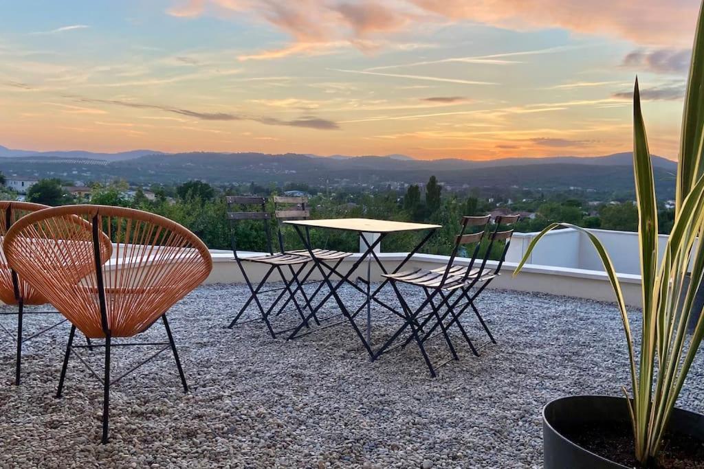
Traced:
<path id="1" fill-rule="evenodd" d="M 289 220 L 289 221 L 284 221 L 284 224 L 289 224 L 291 226 L 294 226 L 294 229 L 296 229 L 296 233 L 298 233 L 298 236 L 300 236 L 301 241 L 303 242 L 303 245 L 306 247 L 306 250 L 310 253 L 310 257 L 312 257 L 313 262 L 315 262 L 315 266 L 318 268 L 320 271 L 320 274 L 322 275 L 323 281 L 327 284 L 327 287 L 329 289 L 329 293 L 327 296 L 318 304 L 318 306 L 313 307 L 313 305 L 310 305 L 310 314 L 304 321 L 301 322 L 301 324 L 291 333 L 289 336 L 289 339 L 296 338 L 296 335 L 298 332 L 305 326 L 310 319 L 315 316 L 315 314 L 320 310 L 320 308 L 329 300 L 330 297 L 334 297 L 335 302 L 337 302 L 337 305 L 341 311 L 341 314 L 345 316 L 347 321 L 350 322 L 352 328 L 355 330 L 356 334 L 362 341 L 362 344 L 364 345 L 365 349 L 367 349 L 367 352 L 370 355 L 370 358 L 374 358 L 374 353 L 372 352 L 370 342 L 371 342 L 371 333 L 372 333 L 372 302 L 376 302 L 377 304 L 380 304 L 382 307 L 385 307 L 386 309 L 389 309 L 390 311 L 394 312 L 394 314 L 401 315 L 396 309 L 393 307 L 390 307 L 389 305 L 385 304 L 381 300 L 379 300 L 376 296 L 377 294 L 384 288 L 384 285 L 386 285 L 387 282 L 389 282 L 389 279 L 385 279 L 384 282 L 379 285 L 374 292 L 372 293 L 371 291 L 371 264 L 372 264 L 372 258 L 374 261 L 377 263 L 379 266 L 379 269 L 384 274 L 388 274 L 389 272 L 386 271 L 386 268 L 384 267 L 384 264 L 382 263 L 381 259 L 379 259 L 379 256 L 377 256 L 377 252 L 375 252 L 375 248 L 377 248 L 378 245 L 381 244 L 382 240 L 386 238 L 391 233 L 398 233 L 401 231 L 425 231 L 428 230 L 428 233 L 425 237 L 422 238 L 420 243 L 418 243 L 415 248 L 411 252 L 406 255 L 406 258 L 403 259 L 401 264 L 398 264 L 396 266 L 396 269 L 392 273 L 398 272 L 403 265 L 405 265 L 413 255 L 422 248 L 423 245 L 427 242 L 427 240 L 430 239 L 430 237 L 433 235 L 433 233 L 436 231 L 436 229 L 441 228 L 440 225 L 432 225 L 432 224 L 422 224 L 422 223 L 410 223 L 406 221 L 388 221 L 388 220 L 377 220 L 377 219 L 369 219 L 369 218 L 344 218 L 344 219 L 320 219 L 320 220 Z M 341 274 L 339 271 L 334 269 L 332 266 L 329 264 L 326 264 L 324 261 L 321 259 L 318 259 L 318 257 L 315 256 L 315 252 L 313 250 L 313 247 L 310 245 L 310 236 L 309 236 L 309 231 L 310 228 L 315 228 L 315 229 L 334 229 L 334 230 L 344 230 L 344 231 L 356 231 L 360 234 L 360 240 L 363 241 L 363 243 L 366 246 L 366 249 L 363 253 L 361 253 L 360 257 L 354 262 L 354 264 L 350 267 L 350 269 L 346 272 L 346 274 Z M 379 233 L 379 237 L 375 240 L 373 240 L 371 243 L 365 236 L 363 236 L 363 233 Z M 353 281 L 350 281 L 350 276 L 353 274 L 356 269 L 364 262 L 367 260 L 367 281 L 366 281 L 366 299 L 365 302 L 356 309 L 353 313 L 345 306 L 344 302 L 340 299 L 337 290 L 344 285 L 352 285 L 353 288 L 356 288 L 357 290 L 362 290 L 356 283 Z M 327 269 L 327 272 L 326 272 Z M 339 281 L 335 285 L 332 285 L 332 282 L 330 281 L 330 278 L 332 277 L 332 274 L 336 274 L 339 277 Z M 366 307 L 367 309 L 367 330 L 366 330 L 366 337 L 363 335 L 362 331 L 360 328 L 358 328 L 357 324 L 354 321 L 354 318 Z"/>

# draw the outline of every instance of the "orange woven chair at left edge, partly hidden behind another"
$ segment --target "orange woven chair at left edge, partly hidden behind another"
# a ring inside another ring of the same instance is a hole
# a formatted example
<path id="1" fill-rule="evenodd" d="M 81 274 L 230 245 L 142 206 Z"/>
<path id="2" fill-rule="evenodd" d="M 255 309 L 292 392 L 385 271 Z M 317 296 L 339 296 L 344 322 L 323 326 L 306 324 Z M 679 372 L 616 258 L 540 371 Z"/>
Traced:
<path id="1" fill-rule="evenodd" d="M 17 221 L 18 219 L 24 217 L 32 212 L 37 212 L 38 210 L 43 210 L 48 208 L 46 205 L 28 203 L 28 202 L 13 202 L 9 200 L 0 200 L 0 210 L 2 210 L 2 216 L 0 217 L 0 236 L 4 238 L 8 229 Z M 74 229 L 86 230 L 90 233 L 90 225 L 84 223 L 82 219 L 75 219 Z M 106 239 L 107 240 L 107 239 Z M 107 256 L 110 257 L 111 245 L 109 240 L 108 243 L 103 245 L 103 248 L 107 249 Z M 80 277 L 79 277 L 80 278 Z M 76 278 L 75 281 L 78 281 Z M 17 273 L 11 269 L 5 259 L 4 253 L 0 250 L 0 300 L 5 304 L 17 304 L 18 311 L 16 313 L 2 313 L 2 314 L 16 314 L 17 315 L 17 335 L 15 336 L 7 330 L 4 326 L 0 325 L 0 329 L 4 330 L 8 335 L 15 339 L 17 348 L 15 356 L 15 385 L 20 384 L 21 369 L 22 369 L 22 347 L 25 342 L 37 338 L 39 335 L 46 333 L 47 331 L 59 326 L 66 320 L 55 323 L 48 328 L 44 328 L 37 333 L 30 335 L 30 337 L 23 337 L 23 324 L 24 316 L 27 314 L 58 314 L 58 311 L 32 311 L 25 312 L 25 304 L 46 304 L 48 301 L 42 295 L 42 293 L 33 288 L 30 283 L 24 280 L 23 277 L 17 275 Z"/>

